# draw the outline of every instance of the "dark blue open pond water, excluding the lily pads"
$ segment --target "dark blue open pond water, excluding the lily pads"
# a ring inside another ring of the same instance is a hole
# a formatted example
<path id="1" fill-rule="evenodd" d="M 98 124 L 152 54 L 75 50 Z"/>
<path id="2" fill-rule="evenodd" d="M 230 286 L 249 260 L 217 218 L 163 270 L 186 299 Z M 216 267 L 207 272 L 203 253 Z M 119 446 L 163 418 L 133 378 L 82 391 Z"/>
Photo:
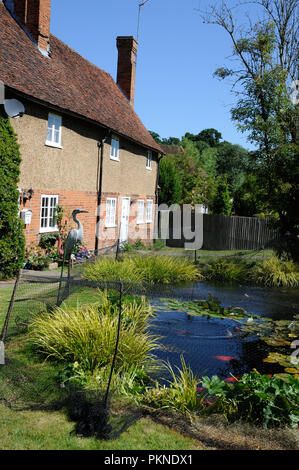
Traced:
<path id="1" fill-rule="evenodd" d="M 223 306 L 238 306 L 248 313 L 273 319 L 292 319 L 299 310 L 299 292 L 294 289 L 262 289 L 256 287 L 217 287 L 198 283 L 182 287 L 177 295 L 185 298 L 207 299 L 211 293 Z M 256 368 L 260 373 L 282 372 L 277 364 L 263 362 L 269 347 L 255 335 L 245 336 L 240 323 L 231 319 L 191 316 L 184 311 L 161 309 L 159 299 L 152 300 L 159 310 L 151 323 L 151 332 L 161 336 L 162 349 L 157 357 L 181 368 L 181 356 L 194 374 L 218 375 L 228 381 Z M 244 320 L 246 322 L 247 320 Z M 163 374 L 162 383 L 170 376 Z"/>

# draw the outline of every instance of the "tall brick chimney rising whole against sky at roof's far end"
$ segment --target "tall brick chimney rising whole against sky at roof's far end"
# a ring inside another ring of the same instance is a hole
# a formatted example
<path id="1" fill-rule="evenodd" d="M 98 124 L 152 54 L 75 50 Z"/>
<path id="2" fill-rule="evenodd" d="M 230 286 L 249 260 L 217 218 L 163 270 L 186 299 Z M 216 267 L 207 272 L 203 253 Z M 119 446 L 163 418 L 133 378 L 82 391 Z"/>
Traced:
<path id="1" fill-rule="evenodd" d="M 138 42 L 133 36 L 118 36 L 117 84 L 134 107 Z"/>

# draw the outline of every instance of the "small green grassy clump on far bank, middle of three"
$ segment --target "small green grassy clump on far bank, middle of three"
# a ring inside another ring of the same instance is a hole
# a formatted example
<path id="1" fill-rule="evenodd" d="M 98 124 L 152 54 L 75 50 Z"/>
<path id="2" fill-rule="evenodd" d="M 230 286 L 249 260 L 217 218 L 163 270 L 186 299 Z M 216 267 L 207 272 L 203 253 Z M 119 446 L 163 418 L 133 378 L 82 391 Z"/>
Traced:
<path id="1" fill-rule="evenodd" d="M 246 279 L 248 267 L 237 258 L 216 258 L 204 267 L 204 277 L 215 282 L 241 282 Z"/>

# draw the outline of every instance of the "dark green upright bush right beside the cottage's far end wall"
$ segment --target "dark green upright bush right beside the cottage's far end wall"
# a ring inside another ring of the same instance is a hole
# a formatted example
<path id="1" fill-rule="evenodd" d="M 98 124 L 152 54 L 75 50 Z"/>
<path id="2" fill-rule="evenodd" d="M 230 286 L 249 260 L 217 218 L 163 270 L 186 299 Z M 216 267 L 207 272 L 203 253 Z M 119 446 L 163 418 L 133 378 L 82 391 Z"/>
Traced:
<path id="1" fill-rule="evenodd" d="M 182 198 L 182 183 L 173 161 L 163 157 L 160 162 L 159 204 L 179 204 Z"/>

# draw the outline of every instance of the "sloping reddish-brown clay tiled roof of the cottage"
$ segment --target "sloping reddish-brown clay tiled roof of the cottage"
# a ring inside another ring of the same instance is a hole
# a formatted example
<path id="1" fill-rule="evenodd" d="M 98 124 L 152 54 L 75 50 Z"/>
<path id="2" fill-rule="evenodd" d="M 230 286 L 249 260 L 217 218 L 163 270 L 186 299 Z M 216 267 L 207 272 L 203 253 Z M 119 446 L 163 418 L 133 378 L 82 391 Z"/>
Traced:
<path id="1" fill-rule="evenodd" d="M 0 80 L 14 90 L 91 119 L 162 152 L 112 77 L 55 36 L 44 57 L 0 3 Z"/>

